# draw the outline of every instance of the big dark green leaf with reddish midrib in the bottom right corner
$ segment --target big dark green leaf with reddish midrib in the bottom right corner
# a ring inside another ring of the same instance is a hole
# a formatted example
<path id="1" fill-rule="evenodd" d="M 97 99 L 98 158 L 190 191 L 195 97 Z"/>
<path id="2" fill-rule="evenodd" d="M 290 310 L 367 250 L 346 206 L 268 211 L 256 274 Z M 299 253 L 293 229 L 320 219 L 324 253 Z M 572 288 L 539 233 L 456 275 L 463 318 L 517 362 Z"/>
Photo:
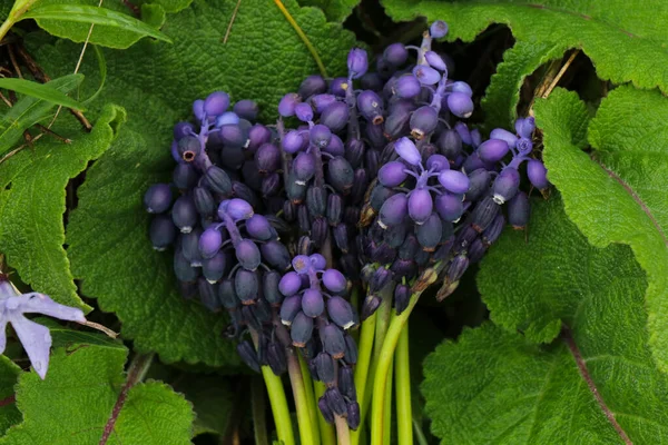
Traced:
<path id="1" fill-rule="evenodd" d="M 665 442 L 668 386 L 647 346 L 647 279 L 628 246 L 590 246 L 554 197 L 534 202 L 528 241 L 503 234 L 480 275 L 507 329 L 465 330 L 425 362 L 426 412 L 444 444 L 623 443 L 605 409 L 632 443 Z M 559 319 L 569 329 L 536 344 Z"/>

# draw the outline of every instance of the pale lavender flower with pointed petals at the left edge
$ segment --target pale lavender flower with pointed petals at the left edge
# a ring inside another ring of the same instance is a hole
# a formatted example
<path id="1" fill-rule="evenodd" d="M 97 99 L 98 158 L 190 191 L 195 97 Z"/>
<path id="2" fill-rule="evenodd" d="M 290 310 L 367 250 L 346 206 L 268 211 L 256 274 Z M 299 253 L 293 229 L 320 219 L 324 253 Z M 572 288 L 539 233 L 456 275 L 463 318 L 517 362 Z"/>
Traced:
<path id="1" fill-rule="evenodd" d="M 51 334 L 23 314 L 38 313 L 69 322 L 86 322 L 81 309 L 60 305 L 48 295 L 39 293 L 18 294 L 0 274 L 0 354 L 7 345 L 6 328 L 10 323 L 23 345 L 35 372 L 43 379 L 49 368 Z"/>

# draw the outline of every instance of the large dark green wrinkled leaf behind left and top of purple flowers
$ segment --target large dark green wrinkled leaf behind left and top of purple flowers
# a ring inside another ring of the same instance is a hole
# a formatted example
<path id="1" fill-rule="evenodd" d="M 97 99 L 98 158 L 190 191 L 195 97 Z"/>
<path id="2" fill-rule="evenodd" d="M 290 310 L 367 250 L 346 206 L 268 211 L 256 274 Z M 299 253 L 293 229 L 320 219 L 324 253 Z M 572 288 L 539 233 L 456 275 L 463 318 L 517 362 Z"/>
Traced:
<path id="1" fill-rule="evenodd" d="M 189 116 L 194 99 L 215 89 L 234 100 L 258 100 L 267 118 L 275 117 L 281 97 L 301 79 L 316 72 L 316 63 L 294 29 L 273 3 L 244 0 L 227 43 L 222 43 L 236 1 L 207 3 L 170 17 L 164 32 L 174 44 L 141 41 L 130 49 L 106 51 L 105 90 L 96 101 L 112 101 L 128 110 L 128 130 L 108 156 L 87 172 L 79 189 L 79 207 L 68 226 L 68 255 L 82 291 L 97 297 L 104 310 L 115 312 L 122 334 L 140 350 L 157 350 L 166 362 L 236 364 L 233 346 L 222 338 L 225 320 L 198 304 L 185 301 L 173 278 L 169 254 L 151 249 L 146 236 L 149 217 L 141 196 L 150 184 L 168 180 L 171 127 Z M 285 2 L 318 50 L 330 75 L 342 73 L 354 37 L 326 23 L 323 13 Z M 33 41 L 49 72 L 62 70 L 79 52 L 66 41 L 56 46 Z M 150 60 L 150 62 L 140 62 Z M 98 80 L 97 59 L 85 59 L 87 97 Z"/>

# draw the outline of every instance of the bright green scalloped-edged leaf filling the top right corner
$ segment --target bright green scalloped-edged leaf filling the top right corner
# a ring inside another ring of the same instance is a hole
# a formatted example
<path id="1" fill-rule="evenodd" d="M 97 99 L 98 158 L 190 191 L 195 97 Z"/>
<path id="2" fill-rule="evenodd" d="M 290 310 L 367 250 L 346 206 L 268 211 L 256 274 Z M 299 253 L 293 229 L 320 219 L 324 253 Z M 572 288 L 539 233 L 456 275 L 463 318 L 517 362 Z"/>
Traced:
<path id="1" fill-rule="evenodd" d="M 668 21 L 668 3 L 661 1 L 383 0 L 383 6 L 394 20 L 418 16 L 430 21 L 445 20 L 451 40 L 471 41 L 491 23 L 508 24 L 517 49 L 509 56 L 513 61 L 495 75 L 499 79 L 493 83 L 500 86 L 519 86 L 547 60 L 569 48 L 579 48 L 591 59 L 601 79 L 668 91 L 668 70 L 657 68 L 668 65 L 661 24 Z M 549 52 L 541 56 L 541 47 Z M 510 103 L 503 101 L 511 91 L 490 86 L 492 98 L 484 107 L 494 125 L 512 120 L 517 97 Z"/>

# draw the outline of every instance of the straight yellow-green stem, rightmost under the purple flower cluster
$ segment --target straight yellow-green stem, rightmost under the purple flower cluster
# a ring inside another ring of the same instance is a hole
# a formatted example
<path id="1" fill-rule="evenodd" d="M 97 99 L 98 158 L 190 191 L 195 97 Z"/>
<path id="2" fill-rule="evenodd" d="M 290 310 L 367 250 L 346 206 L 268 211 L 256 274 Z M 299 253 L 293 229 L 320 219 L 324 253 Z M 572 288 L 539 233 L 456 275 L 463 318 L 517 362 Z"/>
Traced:
<path id="1" fill-rule="evenodd" d="M 409 325 L 404 326 L 394 353 L 396 390 L 396 429 L 399 445 L 413 445 L 413 411 L 411 399 L 411 362 L 409 354 Z"/>

